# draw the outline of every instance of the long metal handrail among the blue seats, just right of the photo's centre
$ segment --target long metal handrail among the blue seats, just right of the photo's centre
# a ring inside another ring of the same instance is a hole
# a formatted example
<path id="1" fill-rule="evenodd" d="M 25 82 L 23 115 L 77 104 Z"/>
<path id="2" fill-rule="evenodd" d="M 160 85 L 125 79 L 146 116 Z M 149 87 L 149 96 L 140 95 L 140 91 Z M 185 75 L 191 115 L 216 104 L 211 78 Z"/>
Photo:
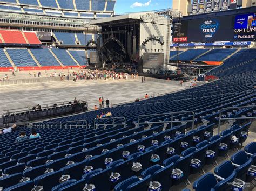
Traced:
<path id="1" fill-rule="evenodd" d="M 187 113 L 192 113 L 192 115 L 193 115 L 192 120 L 173 121 L 173 114 L 187 114 Z M 161 115 L 171 115 L 171 121 L 162 121 L 162 122 L 139 122 L 140 117 L 161 116 Z M 177 111 L 177 112 L 169 112 L 169 113 L 163 113 L 163 114 L 139 115 L 139 116 L 138 116 L 138 124 L 171 123 L 171 128 L 172 128 L 173 123 L 177 123 L 177 122 L 192 122 L 192 129 L 193 129 L 193 128 L 194 128 L 194 118 L 195 118 L 194 111 Z"/>

